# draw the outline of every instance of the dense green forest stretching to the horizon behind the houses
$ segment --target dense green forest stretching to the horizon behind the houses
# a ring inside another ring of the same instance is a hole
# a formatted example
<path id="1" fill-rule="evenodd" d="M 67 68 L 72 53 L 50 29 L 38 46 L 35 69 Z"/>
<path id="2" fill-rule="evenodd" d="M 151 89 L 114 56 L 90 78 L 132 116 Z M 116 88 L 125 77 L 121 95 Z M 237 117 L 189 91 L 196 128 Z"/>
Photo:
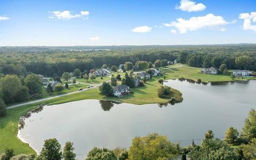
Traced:
<path id="1" fill-rule="evenodd" d="M 26 76 L 28 72 L 52 76 L 57 73 L 100 68 L 137 61 L 175 59 L 189 66 L 256 70 L 256 45 L 184 46 L 75 46 L 0 47 L 0 73 Z"/>

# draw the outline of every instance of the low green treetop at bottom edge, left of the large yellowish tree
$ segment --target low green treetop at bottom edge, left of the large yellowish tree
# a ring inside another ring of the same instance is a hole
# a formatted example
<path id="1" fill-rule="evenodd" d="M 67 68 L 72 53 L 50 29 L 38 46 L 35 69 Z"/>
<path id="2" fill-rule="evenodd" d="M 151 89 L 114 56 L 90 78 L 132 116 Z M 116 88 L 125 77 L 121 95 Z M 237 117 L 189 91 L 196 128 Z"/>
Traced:
<path id="1" fill-rule="evenodd" d="M 117 157 L 112 150 L 94 147 L 89 151 L 85 160 L 117 160 Z"/>

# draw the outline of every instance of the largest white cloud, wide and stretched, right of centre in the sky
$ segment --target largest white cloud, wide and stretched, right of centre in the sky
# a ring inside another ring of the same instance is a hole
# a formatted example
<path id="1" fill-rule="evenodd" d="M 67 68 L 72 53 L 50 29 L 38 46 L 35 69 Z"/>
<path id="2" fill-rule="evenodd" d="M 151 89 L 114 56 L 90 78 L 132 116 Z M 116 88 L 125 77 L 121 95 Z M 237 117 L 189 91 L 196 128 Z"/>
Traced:
<path id="1" fill-rule="evenodd" d="M 202 28 L 218 28 L 221 30 L 221 26 L 228 24 L 222 16 L 215 16 L 213 14 L 207 14 L 205 16 L 191 17 L 189 20 L 182 18 L 171 23 L 163 23 L 165 27 L 175 27 L 180 33 L 186 33 L 188 31 L 196 31 Z"/>

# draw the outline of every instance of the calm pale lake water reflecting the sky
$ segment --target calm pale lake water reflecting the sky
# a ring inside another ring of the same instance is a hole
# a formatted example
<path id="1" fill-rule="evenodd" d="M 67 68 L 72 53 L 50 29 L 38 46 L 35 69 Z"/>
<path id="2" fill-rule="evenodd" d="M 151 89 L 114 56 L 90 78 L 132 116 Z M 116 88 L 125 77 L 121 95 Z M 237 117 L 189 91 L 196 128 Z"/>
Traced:
<path id="1" fill-rule="evenodd" d="M 57 138 L 62 147 L 72 141 L 76 154 L 87 154 L 94 146 L 129 147 L 134 136 L 150 132 L 187 140 L 202 139 L 211 129 L 215 137 L 223 137 L 229 127 L 241 130 L 247 112 L 256 108 L 256 81 L 203 85 L 169 80 L 165 85 L 180 90 L 183 102 L 159 107 L 81 100 L 45 106 L 27 114 L 18 136 L 38 152 L 45 139 Z M 191 140 L 180 144 L 186 146 Z"/>

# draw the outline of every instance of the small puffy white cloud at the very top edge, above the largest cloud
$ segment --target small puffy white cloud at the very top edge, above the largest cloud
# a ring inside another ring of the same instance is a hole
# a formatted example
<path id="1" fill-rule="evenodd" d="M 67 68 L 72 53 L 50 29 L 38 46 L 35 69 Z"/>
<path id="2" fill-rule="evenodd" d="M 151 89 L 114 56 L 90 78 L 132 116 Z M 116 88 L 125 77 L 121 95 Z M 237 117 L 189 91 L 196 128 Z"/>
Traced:
<path id="1" fill-rule="evenodd" d="M 204 11 L 206 6 L 203 3 L 195 3 L 191 0 L 181 0 L 180 5 L 176 6 L 175 9 L 188 12 Z"/>

